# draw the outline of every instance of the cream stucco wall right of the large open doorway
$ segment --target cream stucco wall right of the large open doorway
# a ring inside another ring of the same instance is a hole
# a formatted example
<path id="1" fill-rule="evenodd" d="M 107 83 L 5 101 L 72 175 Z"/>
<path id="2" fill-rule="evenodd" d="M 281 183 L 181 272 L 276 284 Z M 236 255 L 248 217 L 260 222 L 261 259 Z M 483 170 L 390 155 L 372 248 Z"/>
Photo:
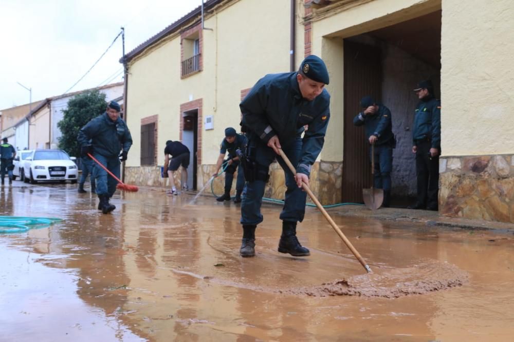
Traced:
<path id="1" fill-rule="evenodd" d="M 443 1 L 442 151 L 514 151 L 514 7 L 510 0 Z"/>

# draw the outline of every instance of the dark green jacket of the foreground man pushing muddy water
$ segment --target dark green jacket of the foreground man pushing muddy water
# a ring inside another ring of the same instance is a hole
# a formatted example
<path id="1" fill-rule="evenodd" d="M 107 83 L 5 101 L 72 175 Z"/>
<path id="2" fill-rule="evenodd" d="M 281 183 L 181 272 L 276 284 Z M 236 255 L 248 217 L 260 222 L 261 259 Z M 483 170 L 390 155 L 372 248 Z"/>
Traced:
<path id="1" fill-rule="evenodd" d="M 243 125 L 265 143 L 277 135 L 281 145 L 293 142 L 308 125 L 302 140 L 297 172 L 310 174 L 325 141 L 330 118 L 330 95 L 324 89 L 314 100 L 302 97 L 297 72 L 268 74 L 261 78 L 240 104 Z"/>

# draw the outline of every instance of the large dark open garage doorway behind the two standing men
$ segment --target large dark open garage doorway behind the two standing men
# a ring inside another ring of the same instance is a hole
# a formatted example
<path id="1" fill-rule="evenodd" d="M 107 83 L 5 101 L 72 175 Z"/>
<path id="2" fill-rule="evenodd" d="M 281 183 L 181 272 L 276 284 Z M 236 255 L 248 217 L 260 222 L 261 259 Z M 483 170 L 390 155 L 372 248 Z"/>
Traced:
<path id="1" fill-rule="evenodd" d="M 371 95 L 391 110 L 393 133 L 392 205 L 406 206 L 416 194 L 412 126 L 418 98 L 412 91 L 424 79 L 440 98 L 441 11 L 344 39 L 343 202 L 362 203 L 371 187 L 369 144 L 353 125 L 359 100 Z"/>

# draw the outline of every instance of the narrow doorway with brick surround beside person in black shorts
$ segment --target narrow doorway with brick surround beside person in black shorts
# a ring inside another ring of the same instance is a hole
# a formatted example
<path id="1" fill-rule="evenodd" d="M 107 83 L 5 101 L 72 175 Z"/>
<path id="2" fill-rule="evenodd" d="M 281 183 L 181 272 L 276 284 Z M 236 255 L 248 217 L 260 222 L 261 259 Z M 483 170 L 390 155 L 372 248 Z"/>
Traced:
<path id="1" fill-rule="evenodd" d="M 198 166 L 198 110 L 194 109 L 182 113 L 182 120 L 182 144 L 186 145 L 191 152 L 188 167 L 188 187 L 189 189 L 196 190 L 196 169 Z"/>

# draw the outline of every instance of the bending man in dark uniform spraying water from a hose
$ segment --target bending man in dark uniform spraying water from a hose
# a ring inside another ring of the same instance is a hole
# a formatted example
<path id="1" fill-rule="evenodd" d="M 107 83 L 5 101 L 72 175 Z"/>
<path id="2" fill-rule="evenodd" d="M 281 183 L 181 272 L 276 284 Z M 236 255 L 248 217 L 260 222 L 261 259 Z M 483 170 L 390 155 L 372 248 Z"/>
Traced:
<path id="1" fill-rule="evenodd" d="M 228 127 L 225 129 L 225 139 L 223 139 L 222 144 L 219 146 L 219 157 L 216 163 L 216 172 L 212 174 L 214 177 L 217 177 L 219 169 L 222 167 L 223 159 L 225 159 L 225 154 L 228 152 L 228 159 L 225 161 L 228 164 L 225 169 L 225 193 L 216 198 L 218 202 L 230 200 L 230 190 L 232 189 L 235 170 L 237 170 L 237 180 L 235 184 L 234 203 L 241 202 L 241 194 L 243 193 L 243 188 L 245 186 L 245 176 L 241 169 L 239 157 L 236 155 L 235 151 L 237 149 L 244 151 L 246 142 L 246 137 L 242 134 L 237 134 L 234 128 Z"/>

